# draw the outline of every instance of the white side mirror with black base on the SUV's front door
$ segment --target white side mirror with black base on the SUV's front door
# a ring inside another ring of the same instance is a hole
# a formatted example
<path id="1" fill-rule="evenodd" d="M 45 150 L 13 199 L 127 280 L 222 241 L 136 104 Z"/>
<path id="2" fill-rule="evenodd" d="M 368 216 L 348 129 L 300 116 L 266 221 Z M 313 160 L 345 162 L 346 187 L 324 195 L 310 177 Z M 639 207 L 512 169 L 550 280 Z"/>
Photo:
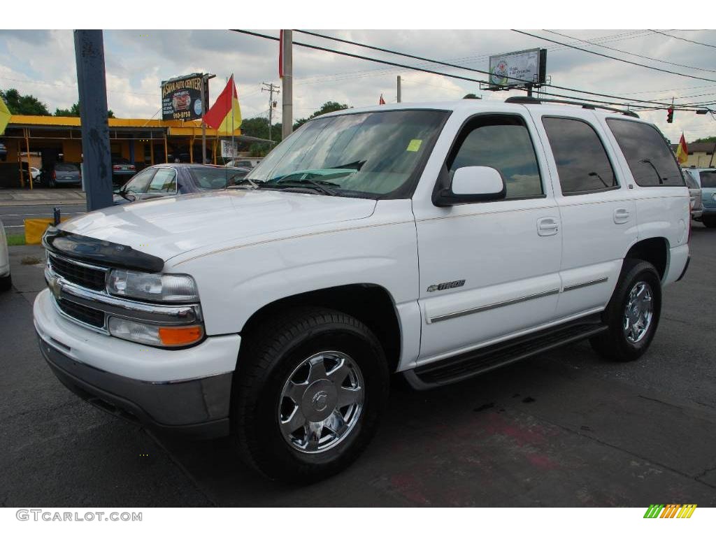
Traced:
<path id="1" fill-rule="evenodd" d="M 441 184 L 445 184 L 446 177 L 441 179 Z M 447 179 L 449 180 L 449 176 Z M 449 207 L 475 201 L 502 200 L 505 198 L 506 190 L 505 180 L 495 168 L 465 166 L 455 170 L 450 186 L 437 190 L 432 196 L 432 201 L 438 207 Z"/>

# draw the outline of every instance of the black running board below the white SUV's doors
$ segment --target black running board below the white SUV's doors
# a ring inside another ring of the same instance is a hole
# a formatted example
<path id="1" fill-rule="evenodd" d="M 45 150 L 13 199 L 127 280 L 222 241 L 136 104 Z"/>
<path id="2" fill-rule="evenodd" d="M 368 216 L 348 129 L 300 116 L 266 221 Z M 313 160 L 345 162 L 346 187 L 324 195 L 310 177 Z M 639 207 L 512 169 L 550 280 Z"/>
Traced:
<path id="1" fill-rule="evenodd" d="M 599 314 L 561 324 L 506 342 L 458 354 L 439 362 L 418 366 L 404 372 L 407 382 L 416 390 L 452 384 L 492 369 L 512 364 L 535 354 L 556 349 L 562 345 L 596 336 L 608 327 L 601 324 Z"/>

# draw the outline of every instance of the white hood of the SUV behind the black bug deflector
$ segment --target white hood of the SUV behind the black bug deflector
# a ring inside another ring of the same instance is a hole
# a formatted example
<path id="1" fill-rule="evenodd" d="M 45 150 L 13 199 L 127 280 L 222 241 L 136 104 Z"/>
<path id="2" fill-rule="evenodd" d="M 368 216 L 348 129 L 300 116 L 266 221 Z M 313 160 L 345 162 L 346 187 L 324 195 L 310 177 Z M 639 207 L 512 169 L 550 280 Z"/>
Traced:
<path id="1" fill-rule="evenodd" d="M 375 200 L 276 190 L 221 190 L 116 205 L 60 224 L 167 261 L 213 244 L 368 218 Z"/>

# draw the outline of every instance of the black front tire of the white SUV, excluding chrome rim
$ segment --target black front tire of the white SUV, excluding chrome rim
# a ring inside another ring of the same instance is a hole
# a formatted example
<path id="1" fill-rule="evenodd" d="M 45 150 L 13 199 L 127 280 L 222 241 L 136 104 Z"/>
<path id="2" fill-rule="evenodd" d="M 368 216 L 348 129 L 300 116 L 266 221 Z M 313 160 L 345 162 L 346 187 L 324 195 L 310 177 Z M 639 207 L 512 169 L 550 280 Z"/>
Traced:
<path id="1" fill-rule="evenodd" d="M 347 354 L 362 374 L 362 410 L 337 445 L 304 453 L 279 427 L 281 392 L 301 362 L 316 353 Z M 351 464 L 377 429 L 389 391 L 383 349 L 361 321 L 340 311 L 301 307 L 281 312 L 244 334 L 233 381 L 231 436 L 241 458 L 271 479 L 313 483 Z"/>

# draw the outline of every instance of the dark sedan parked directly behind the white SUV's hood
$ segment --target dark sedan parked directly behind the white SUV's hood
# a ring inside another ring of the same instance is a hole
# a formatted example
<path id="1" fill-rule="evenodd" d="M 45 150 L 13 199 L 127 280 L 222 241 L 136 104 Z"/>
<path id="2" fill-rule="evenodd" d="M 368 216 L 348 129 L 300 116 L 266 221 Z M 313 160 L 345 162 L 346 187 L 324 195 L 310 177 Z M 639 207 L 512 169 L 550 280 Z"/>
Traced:
<path id="1" fill-rule="evenodd" d="M 122 205 L 168 195 L 220 190 L 242 183 L 249 171 L 208 164 L 157 164 L 145 168 L 117 188 L 114 203 Z"/>

